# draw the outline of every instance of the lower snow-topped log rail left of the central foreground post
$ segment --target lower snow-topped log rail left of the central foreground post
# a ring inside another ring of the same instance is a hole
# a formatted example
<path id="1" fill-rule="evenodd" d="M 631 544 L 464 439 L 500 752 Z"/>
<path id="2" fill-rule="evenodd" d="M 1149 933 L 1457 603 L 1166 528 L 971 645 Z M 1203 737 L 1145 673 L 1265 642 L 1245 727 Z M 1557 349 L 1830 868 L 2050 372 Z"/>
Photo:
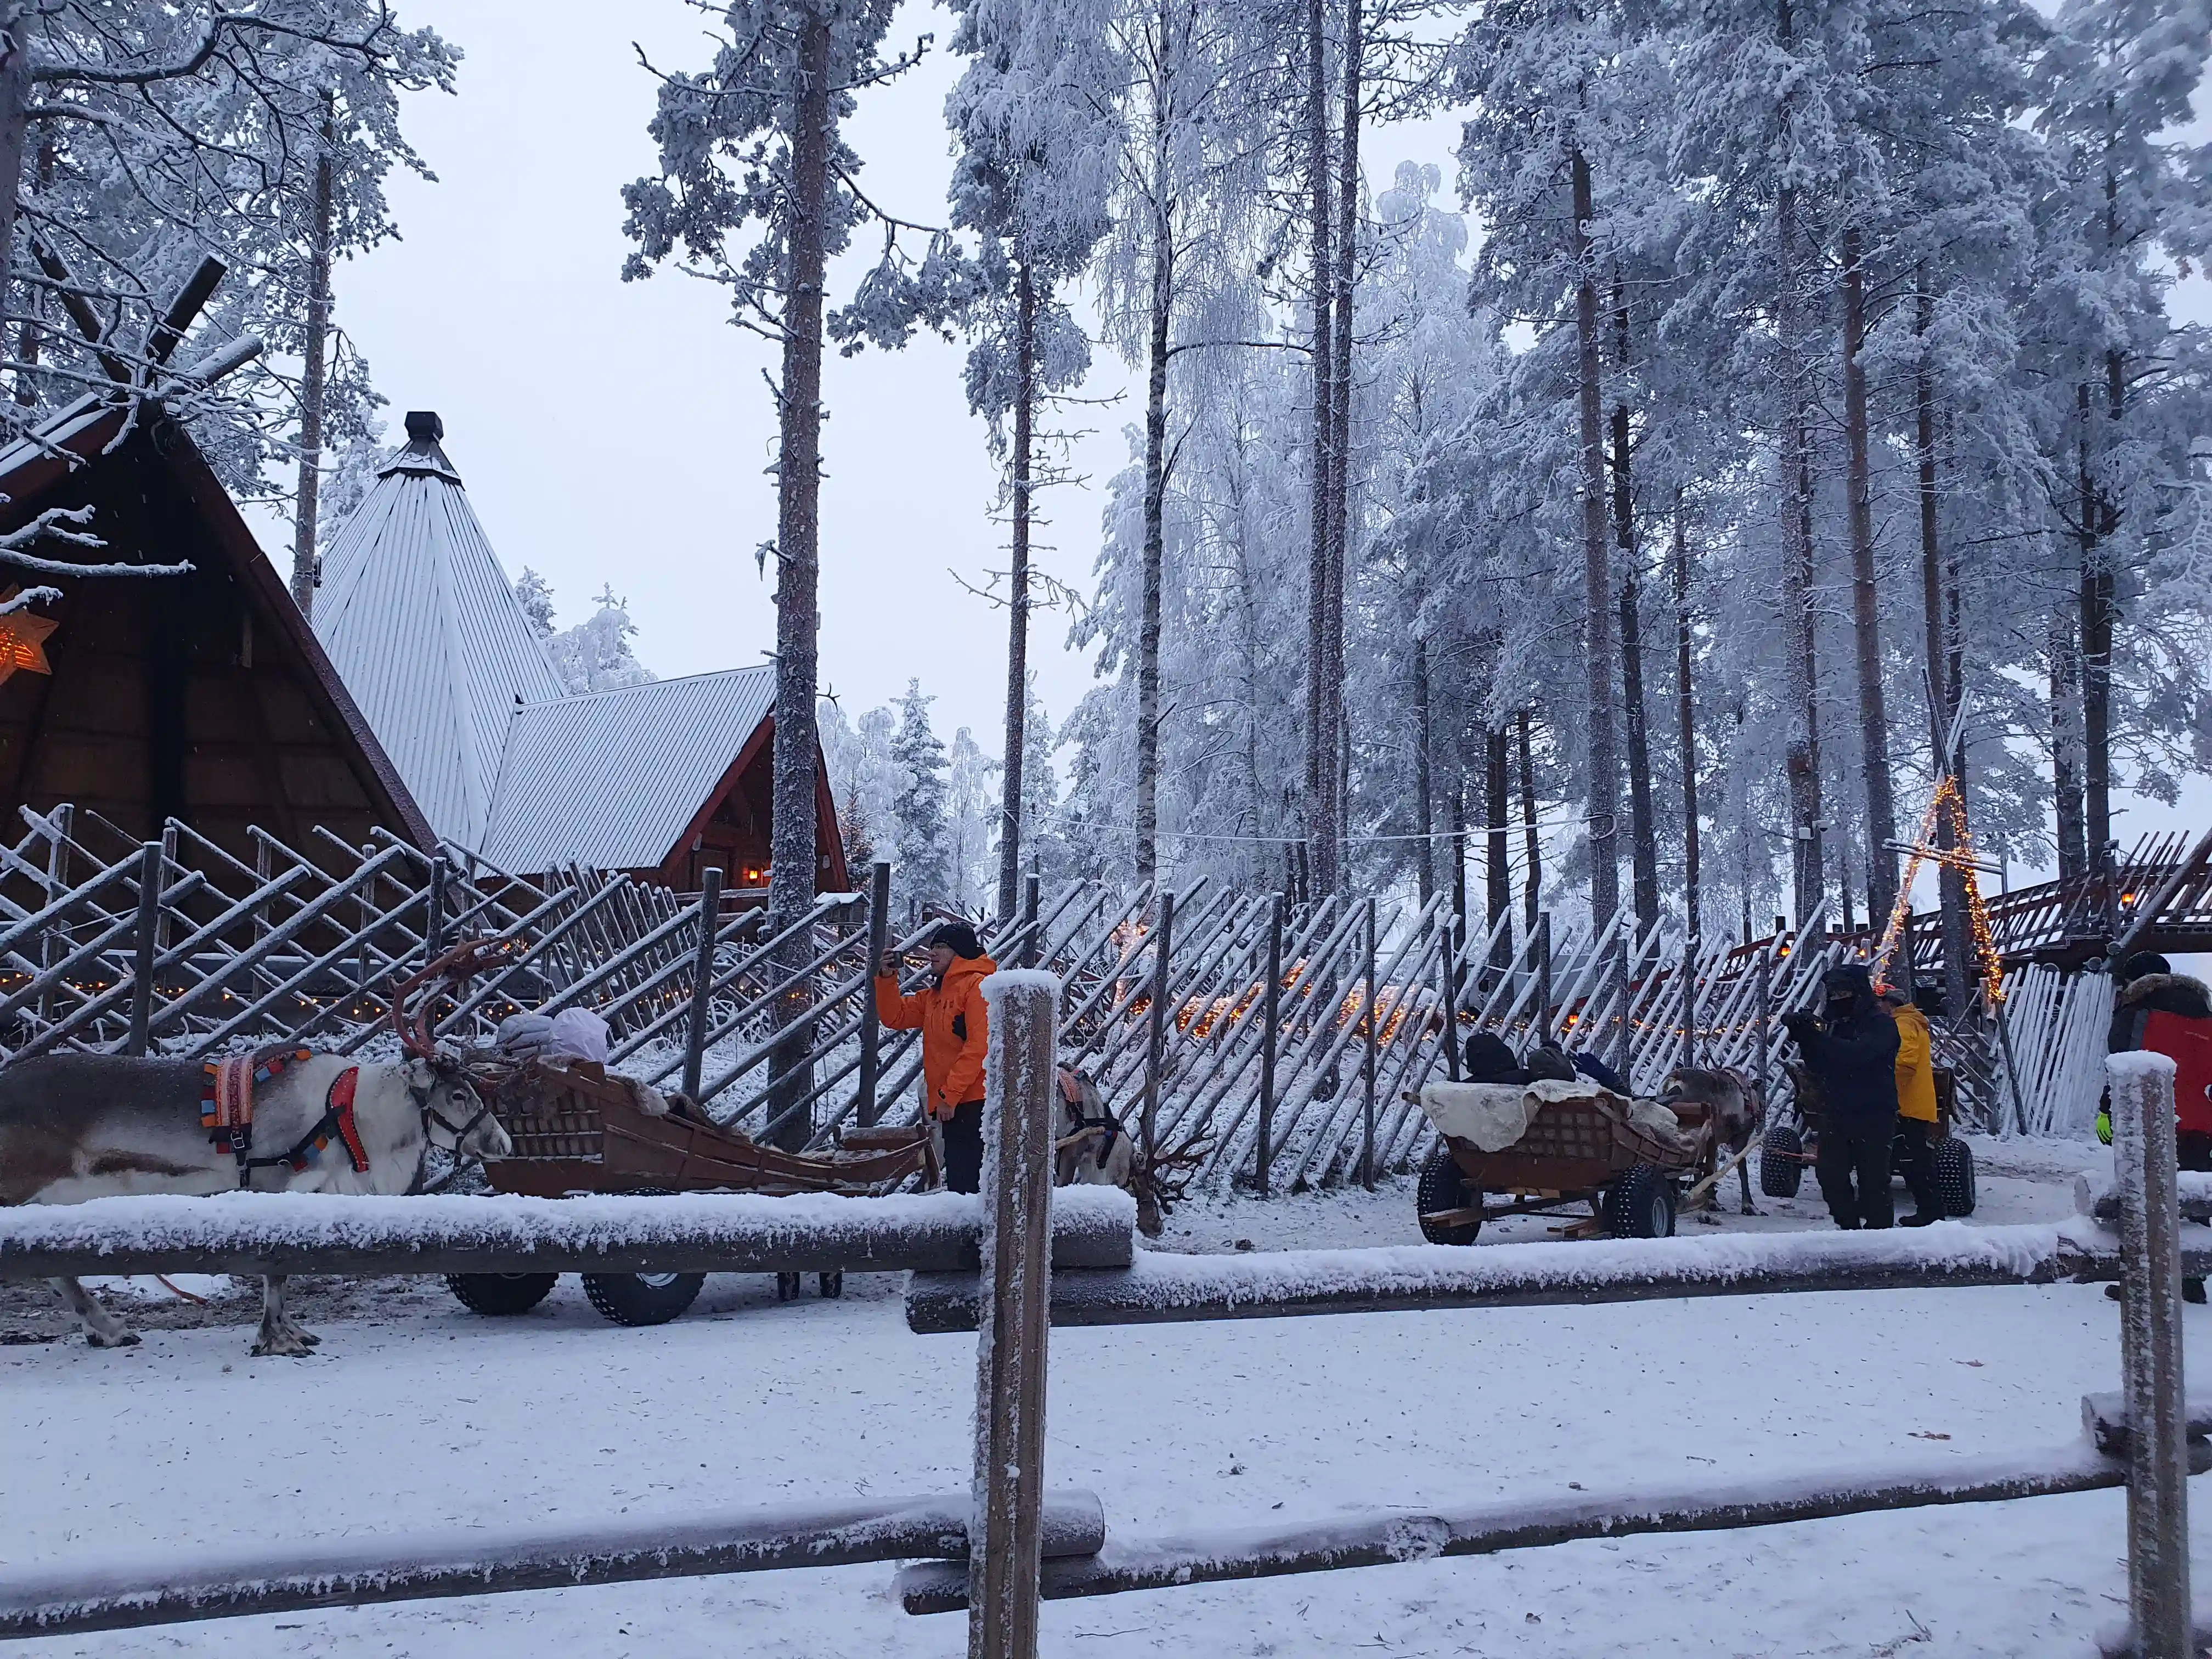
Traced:
<path id="1" fill-rule="evenodd" d="M 1097 1555 L 1106 1511 L 1093 1493 L 1042 1506 L 1044 1559 Z M 945 1559 L 969 1553 L 969 1495 L 876 1498 L 825 1509 L 628 1517 L 588 1531 L 491 1526 L 429 1537 L 349 1537 L 228 1557 L 168 1551 L 0 1577 L 0 1639 L 128 1630 L 186 1619 L 418 1601 L 500 1590 L 560 1590 L 787 1566 Z M 958 1568 L 962 1575 L 964 1566 Z M 962 1577 L 964 1582 L 964 1577 Z"/>

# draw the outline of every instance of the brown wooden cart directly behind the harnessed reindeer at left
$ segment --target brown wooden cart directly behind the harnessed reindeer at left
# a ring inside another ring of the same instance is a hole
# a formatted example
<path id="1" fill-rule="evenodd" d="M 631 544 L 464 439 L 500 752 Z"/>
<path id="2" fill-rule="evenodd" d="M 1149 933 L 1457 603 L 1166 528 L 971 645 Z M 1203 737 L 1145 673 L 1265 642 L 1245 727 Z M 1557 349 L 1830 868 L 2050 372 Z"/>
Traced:
<path id="1" fill-rule="evenodd" d="M 920 1177 L 938 1183 L 936 1139 L 927 1124 L 856 1128 L 832 1152 L 785 1152 L 743 1130 L 708 1121 L 677 1099 L 648 1113 L 622 1077 L 595 1064 L 509 1066 L 471 1055 L 469 1075 L 491 1106 L 513 1152 L 484 1159 L 495 1192 L 560 1199 L 573 1192 L 843 1192 L 880 1197 Z M 522 1314 L 560 1274 L 449 1274 L 447 1285 L 478 1314 Z M 664 1325 L 699 1296 L 706 1274 L 584 1274 L 591 1305 L 617 1325 Z M 841 1272 L 821 1274 L 821 1294 L 838 1296 Z M 799 1274 L 776 1274 L 776 1294 L 799 1294 Z"/>

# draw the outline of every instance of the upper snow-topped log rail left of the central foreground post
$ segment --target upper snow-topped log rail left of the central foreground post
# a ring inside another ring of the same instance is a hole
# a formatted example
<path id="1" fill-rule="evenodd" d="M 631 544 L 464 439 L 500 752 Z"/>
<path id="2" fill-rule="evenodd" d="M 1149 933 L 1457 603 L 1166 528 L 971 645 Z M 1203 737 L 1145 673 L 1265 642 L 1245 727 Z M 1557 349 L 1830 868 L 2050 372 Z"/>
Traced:
<path id="1" fill-rule="evenodd" d="M 1126 1265 L 1135 1223 L 1128 1194 L 1068 1188 L 1053 1203 L 1053 1259 Z M 93 1199 L 0 1208 L 0 1279 L 843 1270 L 973 1279 L 980 1228 L 980 1201 L 958 1192 Z"/>

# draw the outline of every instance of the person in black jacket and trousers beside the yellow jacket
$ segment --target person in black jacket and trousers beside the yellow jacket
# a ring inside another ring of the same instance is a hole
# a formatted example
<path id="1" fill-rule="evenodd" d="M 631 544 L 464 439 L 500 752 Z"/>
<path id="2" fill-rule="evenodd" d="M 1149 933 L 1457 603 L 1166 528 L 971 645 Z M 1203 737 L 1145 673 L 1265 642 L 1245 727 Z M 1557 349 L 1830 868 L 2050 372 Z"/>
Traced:
<path id="1" fill-rule="evenodd" d="M 1887 1228 L 1889 1148 L 1898 1137 L 1898 1022 L 1874 1000 L 1858 962 L 1820 980 L 1820 1013 L 1785 1013 L 1783 1024 L 1820 1084 L 1825 1121 L 1814 1170 L 1838 1228 Z M 1854 1177 L 1858 1190 L 1851 1190 Z"/>

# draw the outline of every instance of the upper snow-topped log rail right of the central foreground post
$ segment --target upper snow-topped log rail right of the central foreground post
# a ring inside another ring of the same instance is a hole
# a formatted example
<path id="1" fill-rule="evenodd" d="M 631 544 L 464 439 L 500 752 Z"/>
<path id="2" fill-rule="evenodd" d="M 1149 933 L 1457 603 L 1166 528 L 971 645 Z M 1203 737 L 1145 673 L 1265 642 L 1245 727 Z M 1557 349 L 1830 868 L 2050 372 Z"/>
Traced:
<path id="1" fill-rule="evenodd" d="M 2212 1274 L 2212 1241 L 2183 1252 Z M 2119 1279 L 2117 1241 L 2088 1221 L 1918 1232 L 1710 1234 L 1480 1250 L 1279 1250 L 1186 1256 L 1139 1250 L 1121 1270 L 1053 1276 L 1055 1325 L 1164 1325 L 1201 1318 L 1405 1314 L 1451 1307 L 1557 1307 L 1679 1296 L 1823 1290 L 1944 1290 Z M 914 1332 L 975 1329 L 975 1281 L 916 1274 Z"/>

